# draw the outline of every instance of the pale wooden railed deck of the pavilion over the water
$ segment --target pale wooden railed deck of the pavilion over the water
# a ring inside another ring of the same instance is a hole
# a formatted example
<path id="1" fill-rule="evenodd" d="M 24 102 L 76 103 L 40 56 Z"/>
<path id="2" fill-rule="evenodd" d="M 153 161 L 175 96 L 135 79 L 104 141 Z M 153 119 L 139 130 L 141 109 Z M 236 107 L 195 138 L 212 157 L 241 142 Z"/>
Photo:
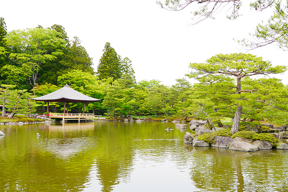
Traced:
<path id="1" fill-rule="evenodd" d="M 94 114 L 93 113 L 49 113 L 49 117 L 52 119 L 62 119 L 64 122 L 65 120 L 93 120 Z"/>

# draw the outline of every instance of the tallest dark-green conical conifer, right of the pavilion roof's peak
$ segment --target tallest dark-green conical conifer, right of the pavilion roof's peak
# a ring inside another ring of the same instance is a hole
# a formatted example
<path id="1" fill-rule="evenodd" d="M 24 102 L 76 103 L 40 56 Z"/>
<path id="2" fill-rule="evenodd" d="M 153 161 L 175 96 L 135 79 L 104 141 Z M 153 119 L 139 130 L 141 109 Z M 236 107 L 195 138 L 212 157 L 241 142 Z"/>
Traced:
<path id="1" fill-rule="evenodd" d="M 105 44 L 96 74 L 100 80 L 108 77 L 115 80 L 121 77 L 121 58 L 109 42 Z"/>

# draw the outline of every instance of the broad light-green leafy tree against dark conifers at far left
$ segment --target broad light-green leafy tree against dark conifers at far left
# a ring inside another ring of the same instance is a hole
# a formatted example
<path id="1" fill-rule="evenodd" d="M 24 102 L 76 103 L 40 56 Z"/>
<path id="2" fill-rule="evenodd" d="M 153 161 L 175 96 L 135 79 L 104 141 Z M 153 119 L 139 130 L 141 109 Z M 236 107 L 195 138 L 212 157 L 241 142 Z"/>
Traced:
<path id="1" fill-rule="evenodd" d="M 58 35 L 55 30 L 39 28 L 14 30 L 7 33 L 4 40 L 7 46 L 15 50 L 9 54 L 9 58 L 18 66 L 6 65 L 2 71 L 6 70 L 6 73 L 19 71 L 29 85 L 34 87 L 38 82 L 41 67 L 63 54 L 62 49 L 66 42 Z M 11 76 L 14 76 L 14 79 L 19 78 L 17 75 Z"/>

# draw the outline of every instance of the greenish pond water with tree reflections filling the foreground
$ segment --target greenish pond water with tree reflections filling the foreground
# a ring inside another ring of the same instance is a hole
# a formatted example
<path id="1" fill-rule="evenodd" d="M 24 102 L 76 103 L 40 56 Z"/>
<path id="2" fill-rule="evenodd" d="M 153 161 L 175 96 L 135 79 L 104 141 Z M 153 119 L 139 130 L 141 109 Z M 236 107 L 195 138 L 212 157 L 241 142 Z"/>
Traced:
<path id="1" fill-rule="evenodd" d="M 1 192 L 288 191 L 288 150 L 194 148 L 183 139 L 192 131 L 171 122 L 0 125 L 0 130 L 6 134 L 0 136 Z"/>

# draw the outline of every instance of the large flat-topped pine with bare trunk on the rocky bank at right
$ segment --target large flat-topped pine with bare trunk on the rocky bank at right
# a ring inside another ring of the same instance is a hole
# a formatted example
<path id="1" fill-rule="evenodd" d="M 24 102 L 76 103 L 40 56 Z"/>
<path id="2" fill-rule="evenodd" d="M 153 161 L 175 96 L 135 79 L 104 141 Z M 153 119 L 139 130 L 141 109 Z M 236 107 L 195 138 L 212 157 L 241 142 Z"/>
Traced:
<path id="1" fill-rule="evenodd" d="M 221 82 L 233 77 L 235 84 L 229 89 L 229 92 L 231 92 L 229 101 L 231 106 L 236 106 L 237 109 L 231 129 L 232 133 L 238 131 L 243 105 L 254 95 L 253 91 L 258 91 L 256 89 L 242 89 L 242 79 L 255 75 L 267 76 L 269 74 L 283 73 L 286 70 L 286 66 L 278 65 L 272 67 L 271 63 L 263 61 L 262 57 L 242 53 L 219 54 L 207 59 L 205 63 L 191 63 L 190 68 L 192 71 L 187 75 L 198 79 L 200 82 L 208 82 L 209 80 Z"/>

